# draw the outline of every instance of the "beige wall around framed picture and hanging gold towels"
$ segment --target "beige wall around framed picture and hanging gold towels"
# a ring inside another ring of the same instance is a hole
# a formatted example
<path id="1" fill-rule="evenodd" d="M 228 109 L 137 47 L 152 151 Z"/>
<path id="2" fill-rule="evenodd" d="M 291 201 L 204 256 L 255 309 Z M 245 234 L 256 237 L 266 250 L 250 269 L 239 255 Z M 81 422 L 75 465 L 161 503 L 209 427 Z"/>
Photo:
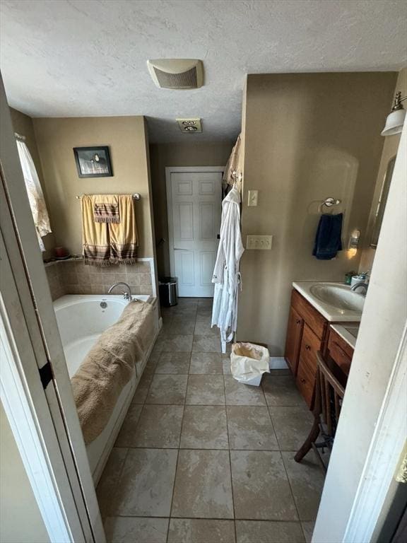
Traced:
<path id="1" fill-rule="evenodd" d="M 143 117 L 33 119 L 57 245 L 81 254 L 81 206 L 76 194 L 141 194 L 136 202 L 138 255 L 153 257 L 153 226 L 148 187 L 148 142 Z M 110 147 L 113 177 L 80 179 L 73 147 Z"/>

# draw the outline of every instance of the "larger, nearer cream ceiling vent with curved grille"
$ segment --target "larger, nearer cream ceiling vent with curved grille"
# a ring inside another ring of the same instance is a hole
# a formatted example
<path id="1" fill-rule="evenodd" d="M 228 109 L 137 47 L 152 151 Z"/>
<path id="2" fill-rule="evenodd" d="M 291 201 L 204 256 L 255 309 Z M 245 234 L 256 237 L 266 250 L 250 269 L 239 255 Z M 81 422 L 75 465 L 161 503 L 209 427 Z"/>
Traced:
<path id="1" fill-rule="evenodd" d="M 204 69 L 198 59 L 155 59 L 147 61 L 148 71 L 160 88 L 199 88 Z"/>

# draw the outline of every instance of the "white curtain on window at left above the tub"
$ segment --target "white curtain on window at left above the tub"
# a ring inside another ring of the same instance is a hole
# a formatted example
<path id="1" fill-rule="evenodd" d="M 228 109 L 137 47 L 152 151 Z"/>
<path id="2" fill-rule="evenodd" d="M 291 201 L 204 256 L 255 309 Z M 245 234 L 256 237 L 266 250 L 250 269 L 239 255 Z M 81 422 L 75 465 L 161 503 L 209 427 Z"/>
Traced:
<path id="1" fill-rule="evenodd" d="M 49 226 L 49 216 L 44 194 L 28 147 L 23 141 L 17 140 L 17 148 L 21 168 L 23 169 L 25 187 L 27 188 L 28 199 L 30 200 L 31 212 L 33 213 L 34 224 L 37 230 L 38 243 L 40 243 L 40 249 L 45 251 L 41 238 L 51 232 L 51 226 Z"/>

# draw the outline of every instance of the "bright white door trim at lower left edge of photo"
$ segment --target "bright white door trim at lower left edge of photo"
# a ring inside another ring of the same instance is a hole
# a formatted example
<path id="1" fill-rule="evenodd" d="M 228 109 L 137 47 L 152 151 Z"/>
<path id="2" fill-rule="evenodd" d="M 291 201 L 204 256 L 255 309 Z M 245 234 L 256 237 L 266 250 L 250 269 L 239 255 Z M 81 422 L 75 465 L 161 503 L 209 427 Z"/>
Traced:
<path id="1" fill-rule="evenodd" d="M 2 233 L 0 254 L 1 403 L 49 540 L 85 542 Z"/>

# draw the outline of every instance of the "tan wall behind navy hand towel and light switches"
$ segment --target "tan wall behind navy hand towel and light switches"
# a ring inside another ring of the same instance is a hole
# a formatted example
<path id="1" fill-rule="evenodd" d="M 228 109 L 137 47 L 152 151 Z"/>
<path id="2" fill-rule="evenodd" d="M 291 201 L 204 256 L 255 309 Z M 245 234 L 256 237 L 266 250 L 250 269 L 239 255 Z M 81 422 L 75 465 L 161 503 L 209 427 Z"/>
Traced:
<path id="1" fill-rule="evenodd" d="M 341 197 L 346 228 L 366 235 L 396 74 L 267 74 L 247 78 L 242 235 L 273 235 L 271 251 L 242 257 L 237 338 L 284 351 L 292 281 L 342 281 L 358 269 L 343 250 L 312 257 L 318 205 Z M 352 189 L 353 187 L 353 189 Z M 247 207 L 247 191 L 259 206 Z"/>

